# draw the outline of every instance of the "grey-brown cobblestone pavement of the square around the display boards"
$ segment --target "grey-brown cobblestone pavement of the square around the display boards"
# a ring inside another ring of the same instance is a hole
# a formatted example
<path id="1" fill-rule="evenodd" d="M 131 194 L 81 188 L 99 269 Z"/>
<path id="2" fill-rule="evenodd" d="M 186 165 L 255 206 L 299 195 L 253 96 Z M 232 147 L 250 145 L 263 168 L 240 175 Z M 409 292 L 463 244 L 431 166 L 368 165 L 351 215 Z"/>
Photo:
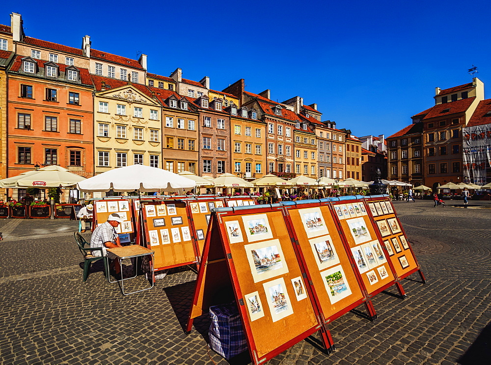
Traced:
<path id="1" fill-rule="evenodd" d="M 307 339 L 270 364 L 489 364 L 491 209 L 454 204 L 395 202 L 426 285 L 412 275 L 407 299 L 394 287 L 374 297 L 374 322 L 363 306 L 335 320 L 331 354 Z M 207 350 L 205 317 L 183 332 L 196 277 L 189 267 L 127 297 L 105 282 L 100 261 L 83 283 L 77 228 L 0 221 L 1 364 L 227 364 Z"/>

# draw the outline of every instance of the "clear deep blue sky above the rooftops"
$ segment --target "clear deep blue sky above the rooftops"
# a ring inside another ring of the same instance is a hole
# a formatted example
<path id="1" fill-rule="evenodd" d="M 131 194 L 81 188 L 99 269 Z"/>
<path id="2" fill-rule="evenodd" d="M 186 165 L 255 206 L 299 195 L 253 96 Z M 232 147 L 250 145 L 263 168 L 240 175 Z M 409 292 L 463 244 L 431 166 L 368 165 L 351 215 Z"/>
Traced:
<path id="1" fill-rule="evenodd" d="M 148 55 L 148 71 L 177 67 L 221 90 L 244 78 L 317 103 L 323 120 L 356 136 L 389 136 L 434 105 L 435 87 L 471 81 L 491 70 L 489 1 L 84 1 L 3 5 L 0 23 L 22 14 L 28 36 L 121 56 Z M 491 82 L 490 82 L 491 87 Z"/>

